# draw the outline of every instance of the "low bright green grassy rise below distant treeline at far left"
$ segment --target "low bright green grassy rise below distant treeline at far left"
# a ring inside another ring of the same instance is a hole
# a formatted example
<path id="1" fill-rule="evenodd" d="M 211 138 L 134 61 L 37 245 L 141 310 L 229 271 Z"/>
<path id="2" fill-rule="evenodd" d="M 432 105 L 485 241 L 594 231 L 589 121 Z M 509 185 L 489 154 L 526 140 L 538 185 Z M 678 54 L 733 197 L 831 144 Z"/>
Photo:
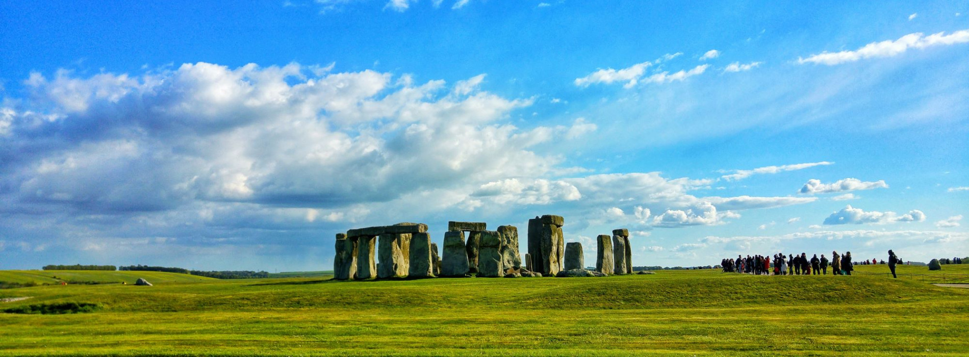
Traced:
<path id="1" fill-rule="evenodd" d="M 187 274 L 162 272 L 127 272 L 127 271 L 0 271 L 0 282 L 18 284 L 34 283 L 59 284 L 61 281 L 77 283 L 135 283 L 143 277 L 152 284 L 173 282 L 200 282 L 216 280 L 205 276 L 190 276 Z"/>

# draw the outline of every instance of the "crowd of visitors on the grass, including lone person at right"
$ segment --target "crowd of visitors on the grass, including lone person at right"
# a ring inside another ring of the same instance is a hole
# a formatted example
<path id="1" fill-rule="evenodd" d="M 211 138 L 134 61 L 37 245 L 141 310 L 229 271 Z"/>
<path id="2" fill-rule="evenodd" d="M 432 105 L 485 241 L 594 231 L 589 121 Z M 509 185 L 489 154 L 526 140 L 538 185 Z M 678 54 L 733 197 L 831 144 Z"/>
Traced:
<path id="1" fill-rule="evenodd" d="M 891 276 L 895 276 L 895 265 L 901 263 L 894 252 L 889 250 L 889 269 L 891 270 Z M 740 274 L 752 274 L 752 275 L 774 275 L 774 276 L 810 276 L 810 275 L 828 275 L 828 268 L 831 270 L 831 274 L 835 276 L 850 276 L 851 272 L 855 270 L 855 265 L 869 265 L 878 264 L 877 259 L 863 260 L 860 262 L 855 262 L 852 260 L 851 252 L 846 251 L 844 254 L 838 254 L 837 251 L 831 251 L 831 258 L 821 254 L 814 254 L 812 257 L 808 258 L 807 253 L 788 254 L 777 253 L 772 256 L 764 255 L 747 255 L 743 257 L 737 255 L 736 258 L 724 258 L 720 266 L 723 267 L 724 273 L 740 273 Z M 882 261 L 885 264 L 885 261 Z M 895 276 L 897 277 L 897 276 Z"/>

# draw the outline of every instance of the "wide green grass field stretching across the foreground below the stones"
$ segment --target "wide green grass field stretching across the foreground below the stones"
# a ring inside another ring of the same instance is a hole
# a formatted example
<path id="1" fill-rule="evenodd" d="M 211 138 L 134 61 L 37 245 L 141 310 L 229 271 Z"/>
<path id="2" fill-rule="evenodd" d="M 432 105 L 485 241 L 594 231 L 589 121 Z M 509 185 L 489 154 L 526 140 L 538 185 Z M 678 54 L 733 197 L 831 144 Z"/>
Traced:
<path id="1" fill-rule="evenodd" d="M 909 272 L 927 269 L 899 269 Z M 944 272 L 969 274 L 969 265 Z M 911 278 L 707 270 L 188 281 L 130 273 L 155 286 L 0 290 L 0 298 L 32 297 L 0 308 L 101 307 L 0 313 L 0 356 L 969 356 L 969 289 Z"/>

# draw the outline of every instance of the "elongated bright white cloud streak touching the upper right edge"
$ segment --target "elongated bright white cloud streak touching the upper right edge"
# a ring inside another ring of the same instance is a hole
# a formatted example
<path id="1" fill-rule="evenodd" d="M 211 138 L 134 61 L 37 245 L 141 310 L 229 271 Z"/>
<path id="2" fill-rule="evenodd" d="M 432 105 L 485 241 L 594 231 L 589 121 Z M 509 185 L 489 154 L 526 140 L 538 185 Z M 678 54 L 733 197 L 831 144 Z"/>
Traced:
<path id="1" fill-rule="evenodd" d="M 891 57 L 904 53 L 908 49 L 925 49 L 934 46 L 948 46 L 969 42 L 969 30 L 959 30 L 946 35 L 939 32 L 924 36 L 921 32 L 902 36 L 895 41 L 882 41 L 865 45 L 856 50 L 842 50 L 839 52 L 824 51 L 811 55 L 807 58 L 797 58 L 797 63 L 816 63 L 833 66 L 845 62 L 854 62 L 860 59 Z"/>

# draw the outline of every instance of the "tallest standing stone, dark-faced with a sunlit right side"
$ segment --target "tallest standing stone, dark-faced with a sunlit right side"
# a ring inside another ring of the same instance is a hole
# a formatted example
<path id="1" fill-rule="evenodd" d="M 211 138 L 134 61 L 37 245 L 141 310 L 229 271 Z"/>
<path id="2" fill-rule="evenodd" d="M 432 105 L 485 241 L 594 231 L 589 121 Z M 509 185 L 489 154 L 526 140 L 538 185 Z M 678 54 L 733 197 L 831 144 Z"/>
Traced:
<path id="1" fill-rule="evenodd" d="M 565 238 L 562 225 L 565 218 L 546 214 L 528 220 L 528 253 L 532 258 L 532 272 L 554 276 L 562 270 Z"/>

